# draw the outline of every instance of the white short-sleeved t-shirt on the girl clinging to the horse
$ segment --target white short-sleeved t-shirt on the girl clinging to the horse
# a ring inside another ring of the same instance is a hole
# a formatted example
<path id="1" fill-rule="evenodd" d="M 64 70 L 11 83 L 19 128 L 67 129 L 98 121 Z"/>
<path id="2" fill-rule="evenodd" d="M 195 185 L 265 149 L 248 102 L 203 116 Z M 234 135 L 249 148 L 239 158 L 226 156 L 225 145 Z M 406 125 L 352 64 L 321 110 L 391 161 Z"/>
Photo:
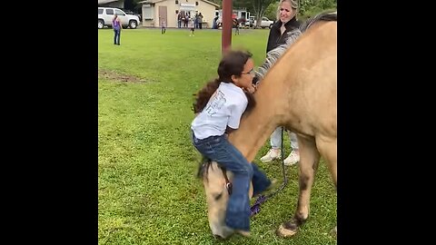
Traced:
<path id="1" fill-rule="evenodd" d="M 241 116 L 247 107 L 247 97 L 243 90 L 233 83 L 220 83 L 211 99 L 191 123 L 197 139 L 223 135 L 227 125 L 239 128 Z"/>

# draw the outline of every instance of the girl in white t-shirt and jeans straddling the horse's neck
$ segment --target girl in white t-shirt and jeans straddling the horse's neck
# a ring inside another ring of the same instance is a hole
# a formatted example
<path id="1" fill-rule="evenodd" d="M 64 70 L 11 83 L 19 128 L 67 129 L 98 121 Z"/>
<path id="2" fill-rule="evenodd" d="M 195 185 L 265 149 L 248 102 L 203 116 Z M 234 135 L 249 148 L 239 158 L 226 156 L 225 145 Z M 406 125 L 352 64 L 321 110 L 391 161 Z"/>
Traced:
<path id="1" fill-rule="evenodd" d="M 238 129 L 245 109 L 254 106 L 253 66 L 252 54 L 248 52 L 225 54 L 218 66 L 219 77 L 197 93 L 193 111 L 198 114 L 191 123 L 193 146 L 198 152 L 233 171 L 233 193 L 227 204 L 225 224 L 244 236 L 250 235 L 250 182 L 253 178 L 253 190 L 262 192 L 270 187 L 271 181 L 228 142 L 225 133 Z"/>

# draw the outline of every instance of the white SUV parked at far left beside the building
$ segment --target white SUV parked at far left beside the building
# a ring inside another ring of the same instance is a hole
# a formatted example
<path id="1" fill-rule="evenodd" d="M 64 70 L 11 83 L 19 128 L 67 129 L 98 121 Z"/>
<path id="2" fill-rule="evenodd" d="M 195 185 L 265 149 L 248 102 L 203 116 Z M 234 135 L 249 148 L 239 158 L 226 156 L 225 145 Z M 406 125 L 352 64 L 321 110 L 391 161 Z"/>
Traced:
<path id="1" fill-rule="evenodd" d="M 104 25 L 112 28 L 112 19 L 114 14 L 118 15 L 123 28 L 130 27 L 135 29 L 139 24 L 139 17 L 136 15 L 125 14 L 123 10 L 114 7 L 99 7 L 98 8 L 98 29 L 102 29 Z"/>

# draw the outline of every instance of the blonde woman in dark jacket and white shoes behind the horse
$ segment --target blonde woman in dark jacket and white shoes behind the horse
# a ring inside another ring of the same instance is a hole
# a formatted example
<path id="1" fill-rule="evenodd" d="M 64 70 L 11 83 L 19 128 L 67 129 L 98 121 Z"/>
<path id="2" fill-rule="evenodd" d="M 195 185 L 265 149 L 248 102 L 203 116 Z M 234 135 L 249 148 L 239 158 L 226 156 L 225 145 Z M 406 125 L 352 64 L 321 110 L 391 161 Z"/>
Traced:
<path id="1" fill-rule="evenodd" d="M 277 22 L 274 23 L 268 36 L 268 44 L 266 52 L 270 52 L 280 44 L 285 44 L 287 33 L 300 26 L 297 21 L 298 0 L 281 0 L 277 9 Z M 271 149 L 262 158 L 262 162 L 272 162 L 275 159 L 282 158 L 282 127 L 278 127 L 271 134 Z M 291 166 L 300 162 L 300 152 L 298 149 L 297 136 L 293 132 L 289 132 L 291 139 L 292 151 L 289 156 L 283 161 L 284 165 Z"/>

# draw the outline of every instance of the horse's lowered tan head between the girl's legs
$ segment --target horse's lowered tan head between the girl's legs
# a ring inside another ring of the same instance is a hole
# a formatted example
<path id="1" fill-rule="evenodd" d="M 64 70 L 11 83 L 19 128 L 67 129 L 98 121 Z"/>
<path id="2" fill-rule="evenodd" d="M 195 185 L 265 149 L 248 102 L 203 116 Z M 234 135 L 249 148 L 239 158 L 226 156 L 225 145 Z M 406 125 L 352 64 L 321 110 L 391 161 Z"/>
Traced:
<path id="1" fill-rule="evenodd" d="M 229 181 L 233 174 L 226 171 Z M 207 202 L 207 217 L 213 236 L 228 238 L 233 230 L 225 225 L 225 211 L 229 201 L 229 191 L 226 188 L 226 180 L 222 169 L 216 162 L 203 162 L 199 168 L 198 176 L 203 178 L 204 192 Z M 250 186 L 249 197 L 253 195 L 253 186 Z"/>

